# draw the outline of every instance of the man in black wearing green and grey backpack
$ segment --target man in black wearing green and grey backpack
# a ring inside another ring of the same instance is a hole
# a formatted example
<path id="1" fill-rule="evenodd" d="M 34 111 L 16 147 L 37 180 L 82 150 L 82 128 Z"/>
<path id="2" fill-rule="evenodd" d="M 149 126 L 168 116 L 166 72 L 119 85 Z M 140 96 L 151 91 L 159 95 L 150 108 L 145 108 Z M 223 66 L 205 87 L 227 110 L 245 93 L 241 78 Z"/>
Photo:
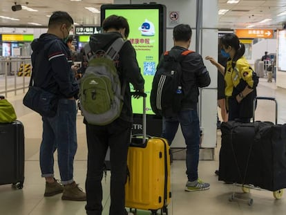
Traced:
<path id="1" fill-rule="evenodd" d="M 126 215 L 127 152 L 131 138 L 131 89 L 144 92 L 135 49 L 126 40 L 128 22 L 111 15 L 104 33 L 90 37 L 85 48 L 88 66 L 81 79 L 80 102 L 86 124 L 88 167 L 86 214 L 102 214 L 102 177 L 108 147 L 111 161 L 110 215 Z M 106 99 L 108 98 L 108 99 Z"/>

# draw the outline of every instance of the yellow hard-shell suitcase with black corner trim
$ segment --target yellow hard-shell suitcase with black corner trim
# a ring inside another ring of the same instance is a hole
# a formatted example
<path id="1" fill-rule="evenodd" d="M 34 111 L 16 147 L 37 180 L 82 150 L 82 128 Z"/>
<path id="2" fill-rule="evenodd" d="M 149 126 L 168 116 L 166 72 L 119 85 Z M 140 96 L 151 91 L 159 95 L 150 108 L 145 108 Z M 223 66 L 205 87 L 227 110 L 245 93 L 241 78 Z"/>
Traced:
<path id="1" fill-rule="evenodd" d="M 126 207 L 168 214 L 170 202 L 170 148 L 163 138 L 133 136 L 128 150 L 129 176 L 125 186 Z"/>

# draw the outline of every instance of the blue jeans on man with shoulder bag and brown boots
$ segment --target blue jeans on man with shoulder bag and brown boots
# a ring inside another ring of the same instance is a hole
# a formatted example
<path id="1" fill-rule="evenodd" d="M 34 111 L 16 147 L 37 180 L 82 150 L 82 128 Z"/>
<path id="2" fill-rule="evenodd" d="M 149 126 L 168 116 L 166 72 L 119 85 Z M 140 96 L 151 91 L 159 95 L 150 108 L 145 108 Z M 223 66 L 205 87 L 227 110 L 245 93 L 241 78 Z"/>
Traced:
<path id="1" fill-rule="evenodd" d="M 68 99 L 59 100 L 55 117 L 42 117 L 43 135 L 39 159 L 41 176 L 54 177 L 54 153 L 57 149 L 63 185 L 73 182 L 73 160 L 77 151 L 76 119 L 76 101 Z"/>

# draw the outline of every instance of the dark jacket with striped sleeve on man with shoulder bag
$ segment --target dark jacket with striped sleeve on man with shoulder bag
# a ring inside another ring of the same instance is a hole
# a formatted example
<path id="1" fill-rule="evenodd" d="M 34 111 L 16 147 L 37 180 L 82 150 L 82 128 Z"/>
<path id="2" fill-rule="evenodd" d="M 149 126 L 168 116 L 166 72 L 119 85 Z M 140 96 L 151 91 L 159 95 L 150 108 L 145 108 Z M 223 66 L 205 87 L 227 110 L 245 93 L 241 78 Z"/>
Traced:
<path id="1" fill-rule="evenodd" d="M 31 44 L 34 85 L 59 97 L 75 97 L 79 86 L 71 70 L 71 57 L 64 41 L 51 34 L 43 34 Z"/>

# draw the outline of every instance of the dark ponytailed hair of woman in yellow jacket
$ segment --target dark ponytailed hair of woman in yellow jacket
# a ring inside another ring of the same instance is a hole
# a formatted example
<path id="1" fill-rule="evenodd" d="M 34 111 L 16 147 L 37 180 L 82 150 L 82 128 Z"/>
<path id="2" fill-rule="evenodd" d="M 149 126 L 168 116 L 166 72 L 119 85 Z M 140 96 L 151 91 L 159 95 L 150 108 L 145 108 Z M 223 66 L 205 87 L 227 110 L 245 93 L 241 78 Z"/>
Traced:
<path id="1" fill-rule="evenodd" d="M 220 44 L 225 46 L 225 48 L 231 46 L 236 50 L 236 54 L 232 59 L 233 64 L 236 64 L 236 61 L 245 54 L 245 45 L 240 43 L 238 36 L 235 34 L 228 33 L 223 35 L 222 38 L 220 38 Z"/>

